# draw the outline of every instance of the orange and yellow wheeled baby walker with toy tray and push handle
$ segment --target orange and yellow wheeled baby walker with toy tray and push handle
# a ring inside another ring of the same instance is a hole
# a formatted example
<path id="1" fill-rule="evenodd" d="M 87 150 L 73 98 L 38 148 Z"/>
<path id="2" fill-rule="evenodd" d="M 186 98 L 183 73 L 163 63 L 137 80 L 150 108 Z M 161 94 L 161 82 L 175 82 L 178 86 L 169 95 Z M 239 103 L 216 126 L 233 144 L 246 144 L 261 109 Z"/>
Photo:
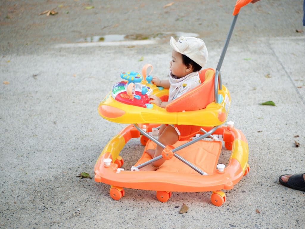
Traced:
<path id="1" fill-rule="evenodd" d="M 221 206 L 226 195 L 220 190 L 232 189 L 249 172 L 245 136 L 235 129 L 234 122 L 220 126 L 227 119 L 231 103 L 230 93 L 221 82 L 220 68 L 239 10 L 249 2 L 251 0 L 236 2 L 234 19 L 216 71 L 212 68 L 199 71 L 201 85 L 173 100 L 166 108 L 150 104 L 148 96 L 151 94 L 166 101 L 168 89 L 151 83 L 152 66 L 146 64 L 142 75 L 134 71 L 121 73 L 124 80 L 116 83 L 99 104 L 99 114 L 106 120 L 133 123 L 109 141 L 95 164 L 95 181 L 110 184 L 113 199 L 124 196 L 124 187 L 154 190 L 161 202 L 170 198 L 171 191 L 212 191 L 212 203 Z M 151 71 L 147 75 L 148 68 Z M 157 140 L 158 126 L 163 123 L 196 125 L 201 127 L 201 132 L 189 140 L 165 146 Z M 126 171 L 120 168 L 124 160 L 119 154 L 131 138 L 140 138 L 145 149 L 138 162 Z M 227 166 L 217 164 L 222 142 L 231 150 Z M 164 148 L 162 155 L 151 158 L 145 151 L 154 149 L 156 144 Z M 160 158 L 166 161 L 156 171 L 139 171 Z"/>

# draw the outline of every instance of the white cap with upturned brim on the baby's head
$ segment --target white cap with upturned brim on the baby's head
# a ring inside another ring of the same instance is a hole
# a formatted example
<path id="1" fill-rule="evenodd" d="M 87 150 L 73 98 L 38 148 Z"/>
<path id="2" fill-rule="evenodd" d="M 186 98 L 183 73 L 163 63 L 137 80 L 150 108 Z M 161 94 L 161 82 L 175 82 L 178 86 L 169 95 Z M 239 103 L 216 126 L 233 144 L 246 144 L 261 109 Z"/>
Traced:
<path id="1" fill-rule="evenodd" d="M 184 54 L 201 67 L 206 64 L 208 50 L 204 41 L 196 37 L 180 37 L 178 42 L 170 37 L 170 46 L 178 53 Z"/>

